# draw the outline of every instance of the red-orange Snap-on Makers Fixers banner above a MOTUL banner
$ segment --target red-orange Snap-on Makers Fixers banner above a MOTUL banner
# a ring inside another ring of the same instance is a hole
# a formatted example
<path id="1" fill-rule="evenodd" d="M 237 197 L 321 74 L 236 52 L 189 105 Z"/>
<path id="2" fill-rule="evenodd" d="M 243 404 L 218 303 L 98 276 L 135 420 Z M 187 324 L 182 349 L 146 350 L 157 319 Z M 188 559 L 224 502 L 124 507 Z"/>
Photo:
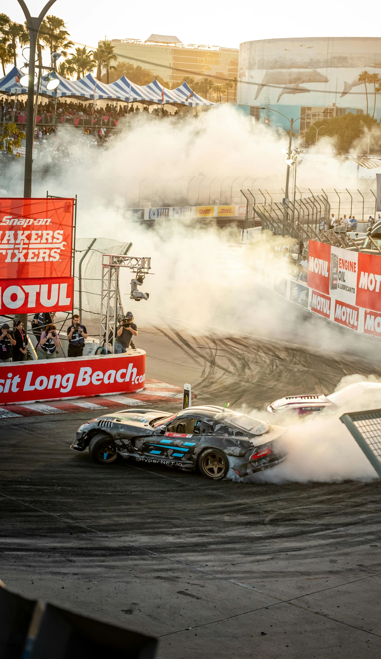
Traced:
<path id="1" fill-rule="evenodd" d="M 0 279 L 70 277 L 74 200 L 0 199 Z"/>

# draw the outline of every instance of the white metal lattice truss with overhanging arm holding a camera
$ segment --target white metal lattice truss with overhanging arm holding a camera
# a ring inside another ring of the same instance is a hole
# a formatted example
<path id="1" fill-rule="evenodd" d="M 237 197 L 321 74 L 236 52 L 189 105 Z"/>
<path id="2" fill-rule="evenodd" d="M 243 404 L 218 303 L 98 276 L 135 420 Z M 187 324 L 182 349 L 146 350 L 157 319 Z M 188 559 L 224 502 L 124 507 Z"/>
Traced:
<path id="1" fill-rule="evenodd" d="M 128 254 L 102 254 L 102 294 L 100 318 L 100 345 L 107 352 L 111 343 L 111 353 L 115 349 L 118 317 L 119 268 L 130 268 L 136 277 L 145 277 L 151 269 L 150 256 L 129 256 Z"/>

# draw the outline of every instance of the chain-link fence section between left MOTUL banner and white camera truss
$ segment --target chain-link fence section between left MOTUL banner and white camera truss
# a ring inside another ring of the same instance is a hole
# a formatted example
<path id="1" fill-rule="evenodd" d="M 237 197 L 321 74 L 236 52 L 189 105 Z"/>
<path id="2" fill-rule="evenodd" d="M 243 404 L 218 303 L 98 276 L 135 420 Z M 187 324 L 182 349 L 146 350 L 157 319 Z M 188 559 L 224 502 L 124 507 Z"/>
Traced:
<path id="1" fill-rule="evenodd" d="M 81 323 L 90 336 L 99 336 L 100 332 L 102 254 L 127 254 L 130 248 L 131 243 L 120 243 L 109 238 L 76 239 L 74 310 L 80 312 Z M 121 296 L 118 297 L 120 311 L 123 312 Z"/>

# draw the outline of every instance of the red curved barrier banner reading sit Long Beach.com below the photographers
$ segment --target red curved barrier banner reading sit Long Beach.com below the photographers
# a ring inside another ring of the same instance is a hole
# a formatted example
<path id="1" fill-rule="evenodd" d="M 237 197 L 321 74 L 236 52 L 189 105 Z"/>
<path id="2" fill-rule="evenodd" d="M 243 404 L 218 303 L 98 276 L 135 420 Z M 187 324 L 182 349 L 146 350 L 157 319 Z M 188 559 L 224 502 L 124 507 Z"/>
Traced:
<path id="1" fill-rule="evenodd" d="M 80 398 L 143 389 L 146 353 L 0 364 L 0 404 Z"/>

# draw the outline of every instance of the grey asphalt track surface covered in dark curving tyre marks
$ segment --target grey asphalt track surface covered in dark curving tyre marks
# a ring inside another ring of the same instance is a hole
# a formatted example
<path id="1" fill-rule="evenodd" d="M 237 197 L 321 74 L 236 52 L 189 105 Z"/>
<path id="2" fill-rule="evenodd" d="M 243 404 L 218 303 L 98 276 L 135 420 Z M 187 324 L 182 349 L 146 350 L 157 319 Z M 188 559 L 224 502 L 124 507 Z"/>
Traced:
<path id="1" fill-rule="evenodd" d="M 260 407 L 381 372 L 374 360 L 170 326 L 140 331 L 139 347 L 148 377 L 191 382 L 198 403 Z M 160 659 L 380 656 L 380 481 L 214 483 L 103 467 L 69 450 L 93 415 L 0 420 L 7 587 L 159 637 Z"/>

